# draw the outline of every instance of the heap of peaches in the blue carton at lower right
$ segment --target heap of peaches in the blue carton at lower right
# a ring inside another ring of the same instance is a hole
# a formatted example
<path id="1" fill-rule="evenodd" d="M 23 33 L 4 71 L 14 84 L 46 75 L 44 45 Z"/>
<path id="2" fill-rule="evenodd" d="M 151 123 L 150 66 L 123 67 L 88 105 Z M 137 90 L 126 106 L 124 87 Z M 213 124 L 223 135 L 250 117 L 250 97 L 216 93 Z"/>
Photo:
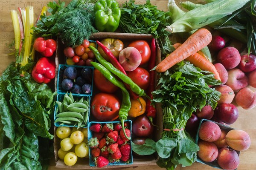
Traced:
<path id="1" fill-rule="evenodd" d="M 227 129 L 213 121 L 204 121 L 198 131 L 198 157 L 204 162 L 215 161 L 225 170 L 239 165 L 239 151 L 250 147 L 250 137 L 243 130 Z"/>

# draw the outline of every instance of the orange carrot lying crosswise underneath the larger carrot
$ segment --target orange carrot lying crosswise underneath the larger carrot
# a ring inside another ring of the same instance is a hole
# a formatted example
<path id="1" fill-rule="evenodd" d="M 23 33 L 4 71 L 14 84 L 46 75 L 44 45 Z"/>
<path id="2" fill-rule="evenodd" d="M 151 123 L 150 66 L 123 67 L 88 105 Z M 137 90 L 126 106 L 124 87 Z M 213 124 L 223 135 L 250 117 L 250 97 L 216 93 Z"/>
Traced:
<path id="1" fill-rule="evenodd" d="M 181 43 L 175 43 L 173 47 L 177 49 L 179 46 L 181 46 Z M 215 68 L 215 66 L 207 60 L 207 58 L 203 57 L 202 55 L 198 54 L 197 52 L 193 55 L 190 55 L 188 58 L 185 59 L 186 61 L 189 61 L 194 66 L 200 68 L 201 70 L 206 70 L 209 72 L 212 72 L 215 75 L 215 79 L 221 80 L 220 75 Z"/>

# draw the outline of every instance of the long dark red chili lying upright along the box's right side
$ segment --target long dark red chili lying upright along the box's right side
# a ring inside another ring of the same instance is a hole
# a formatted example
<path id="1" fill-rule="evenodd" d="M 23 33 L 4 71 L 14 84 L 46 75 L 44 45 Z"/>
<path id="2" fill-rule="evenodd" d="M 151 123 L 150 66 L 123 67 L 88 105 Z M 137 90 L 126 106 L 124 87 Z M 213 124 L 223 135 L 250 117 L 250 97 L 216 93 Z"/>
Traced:
<path id="1" fill-rule="evenodd" d="M 156 52 L 156 43 L 155 43 L 155 39 L 153 38 L 151 41 L 151 57 L 150 60 L 148 62 L 148 71 L 153 69 L 154 66 L 156 65 L 156 57 L 157 57 L 157 52 Z M 154 78 L 155 78 L 155 71 L 150 71 L 149 72 L 149 86 L 147 89 L 147 95 L 153 99 L 153 95 L 151 94 L 151 92 L 154 91 Z M 151 105 L 151 101 L 149 99 L 147 99 L 146 102 L 146 114 L 148 119 L 151 121 L 151 123 L 153 124 L 153 118 L 156 117 L 156 108 Z"/>

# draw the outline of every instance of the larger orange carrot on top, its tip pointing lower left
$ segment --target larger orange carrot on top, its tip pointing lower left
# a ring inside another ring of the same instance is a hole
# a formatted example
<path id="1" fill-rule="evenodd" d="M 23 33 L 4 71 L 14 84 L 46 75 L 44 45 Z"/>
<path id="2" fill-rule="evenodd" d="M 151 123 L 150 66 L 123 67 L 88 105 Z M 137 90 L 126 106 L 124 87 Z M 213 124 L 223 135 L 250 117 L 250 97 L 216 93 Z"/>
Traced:
<path id="1" fill-rule="evenodd" d="M 189 57 L 189 55 L 195 54 L 197 51 L 203 49 L 211 41 L 212 34 L 207 29 L 198 29 L 181 46 L 157 65 L 157 72 L 165 72 L 167 69 Z"/>

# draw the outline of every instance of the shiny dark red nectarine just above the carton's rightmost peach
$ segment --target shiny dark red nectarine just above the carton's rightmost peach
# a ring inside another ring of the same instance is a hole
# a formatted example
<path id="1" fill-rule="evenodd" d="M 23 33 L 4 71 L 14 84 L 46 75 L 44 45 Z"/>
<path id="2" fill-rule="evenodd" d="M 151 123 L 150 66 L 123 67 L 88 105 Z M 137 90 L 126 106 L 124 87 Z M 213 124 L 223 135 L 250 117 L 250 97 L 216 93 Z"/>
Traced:
<path id="1" fill-rule="evenodd" d="M 233 124 L 238 118 L 238 109 L 234 104 L 223 103 L 216 110 L 218 120 L 225 124 Z"/>

